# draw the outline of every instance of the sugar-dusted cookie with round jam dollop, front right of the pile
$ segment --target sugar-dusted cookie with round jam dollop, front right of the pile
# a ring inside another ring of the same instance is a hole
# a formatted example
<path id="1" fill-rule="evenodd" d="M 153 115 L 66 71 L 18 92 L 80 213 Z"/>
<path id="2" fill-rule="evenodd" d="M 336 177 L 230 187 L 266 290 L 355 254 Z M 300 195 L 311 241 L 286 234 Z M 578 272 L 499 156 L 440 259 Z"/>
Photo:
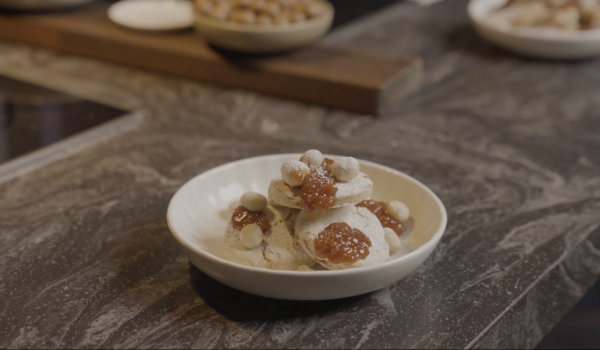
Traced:
<path id="1" fill-rule="evenodd" d="M 301 211 L 296 236 L 306 254 L 330 270 L 371 266 L 389 258 L 381 223 L 362 207 Z"/>

